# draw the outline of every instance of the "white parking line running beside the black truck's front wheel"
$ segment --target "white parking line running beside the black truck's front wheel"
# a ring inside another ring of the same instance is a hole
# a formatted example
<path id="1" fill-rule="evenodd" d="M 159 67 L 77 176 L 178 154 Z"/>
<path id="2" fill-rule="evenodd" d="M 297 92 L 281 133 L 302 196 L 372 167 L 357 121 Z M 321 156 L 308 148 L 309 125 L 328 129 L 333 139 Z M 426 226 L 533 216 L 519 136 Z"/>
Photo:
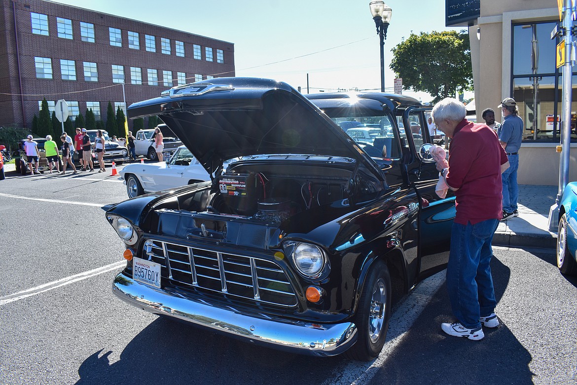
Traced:
<path id="1" fill-rule="evenodd" d="M 394 313 L 391 314 L 389 320 L 389 330 L 387 332 L 387 341 L 383 346 L 383 350 L 373 362 L 359 363 L 348 362 L 340 367 L 338 372 L 338 381 L 332 379 L 330 382 L 324 384 L 366 384 L 379 372 L 383 364 L 389 356 L 395 351 L 396 347 L 406 337 L 407 332 L 413 326 L 417 317 L 421 315 L 422 311 L 432 300 L 433 296 L 440 289 L 445 282 L 445 270 L 430 276 L 415 287 L 411 293 L 404 298 Z M 323 385 L 324 385 L 323 384 Z"/>

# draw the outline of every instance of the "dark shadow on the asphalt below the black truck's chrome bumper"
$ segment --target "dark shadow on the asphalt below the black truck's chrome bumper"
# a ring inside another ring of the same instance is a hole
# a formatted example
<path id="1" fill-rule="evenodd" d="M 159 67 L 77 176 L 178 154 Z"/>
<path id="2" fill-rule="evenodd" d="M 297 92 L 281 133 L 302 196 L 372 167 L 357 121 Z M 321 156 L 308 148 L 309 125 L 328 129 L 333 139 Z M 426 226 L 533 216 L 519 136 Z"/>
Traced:
<path id="1" fill-rule="evenodd" d="M 343 360 L 256 347 L 164 317 L 134 337 L 119 361 L 110 364 L 110 353 L 86 358 L 77 384 L 322 383 Z"/>

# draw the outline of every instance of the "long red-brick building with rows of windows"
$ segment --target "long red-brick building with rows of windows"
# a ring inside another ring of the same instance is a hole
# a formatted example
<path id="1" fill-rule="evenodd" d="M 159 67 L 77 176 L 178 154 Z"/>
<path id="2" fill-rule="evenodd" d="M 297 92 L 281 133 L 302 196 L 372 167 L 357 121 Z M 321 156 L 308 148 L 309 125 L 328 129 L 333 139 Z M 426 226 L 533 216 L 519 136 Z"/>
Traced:
<path id="1" fill-rule="evenodd" d="M 106 119 L 178 84 L 234 76 L 234 44 L 44 0 L 0 0 L 0 126 L 31 127 L 43 98 Z M 132 122 L 129 122 L 132 126 Z"/>

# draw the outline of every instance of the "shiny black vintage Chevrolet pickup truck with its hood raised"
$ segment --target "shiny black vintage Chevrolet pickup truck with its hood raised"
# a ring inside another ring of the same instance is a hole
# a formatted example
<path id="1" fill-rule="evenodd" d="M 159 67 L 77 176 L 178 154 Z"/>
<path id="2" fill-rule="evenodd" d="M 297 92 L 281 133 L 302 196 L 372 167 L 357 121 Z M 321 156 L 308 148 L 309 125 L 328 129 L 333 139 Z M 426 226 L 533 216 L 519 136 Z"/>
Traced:
<path id="1" fill-rule="evenodd" d="M 430 107 L 402 95 L 308 100 L 279 81 L 213 81 L 128 108 L 129 118 L 159 114 L 211 181 L 103 207 L 126 248 L 114 294 L 257 345 L 372 360 L 391 285 L 406 292 L 448 260 L 454 195 L 434 193 L 430 144 L 396 125 L 424 121 Z M 379 157 L 336 124 L 349 116 L 394 128 L 365 146 Z"/>

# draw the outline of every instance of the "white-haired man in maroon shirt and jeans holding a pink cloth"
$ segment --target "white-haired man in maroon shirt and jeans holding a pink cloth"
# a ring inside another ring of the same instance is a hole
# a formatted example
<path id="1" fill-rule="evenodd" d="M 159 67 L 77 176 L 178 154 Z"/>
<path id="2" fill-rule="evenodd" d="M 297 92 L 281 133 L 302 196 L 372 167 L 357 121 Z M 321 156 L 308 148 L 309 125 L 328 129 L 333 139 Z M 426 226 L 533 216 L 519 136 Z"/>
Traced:
<path id="1" fill-rule="evenodd" d="M 481 325 L 499 326 L 489 263 L 501 218 L 501 172 L 508 163 L 494 131 L 467 121 L 466 113 L 453 98 L 441 100 L 432 111 L 437 128 L 452 138 L 449 160 L 438 159 L 437 170 L 456 197 L 447 290 L 457 322 L 442 323 L 441 329 L 479 340 L 485 337 Z"/>

